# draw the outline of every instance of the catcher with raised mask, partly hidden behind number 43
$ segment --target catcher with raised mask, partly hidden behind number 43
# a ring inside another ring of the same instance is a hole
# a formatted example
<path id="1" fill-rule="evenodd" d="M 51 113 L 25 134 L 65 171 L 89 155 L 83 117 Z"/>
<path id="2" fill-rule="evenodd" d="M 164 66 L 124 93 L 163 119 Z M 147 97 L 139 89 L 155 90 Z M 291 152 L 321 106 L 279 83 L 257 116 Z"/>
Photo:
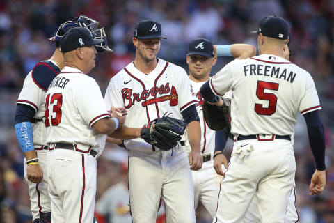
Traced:
<path id="1" fill-rule="evenodd" d="M 74 22 L 75 21 L 75 22 Z M 82 23 L 81 23 L 82 22 Z M 24 79 L 24 86 L 17 99 L 15 132 L 24 153 L 24 181 L 29 185 L 33 222 L 51 220 L 50 198 L 47 192 L 45 123 L 45 93 L 54 77 L 64 66 L 59 43 L 64 33 L 73 27 L 96 24 L 95 20 L 81 15 L 59 26 L 56 36 L 51 38 L 56 49 L 51 58 L 38 62 Z M 43 177 L 44 175 L 44 177 Z"/>

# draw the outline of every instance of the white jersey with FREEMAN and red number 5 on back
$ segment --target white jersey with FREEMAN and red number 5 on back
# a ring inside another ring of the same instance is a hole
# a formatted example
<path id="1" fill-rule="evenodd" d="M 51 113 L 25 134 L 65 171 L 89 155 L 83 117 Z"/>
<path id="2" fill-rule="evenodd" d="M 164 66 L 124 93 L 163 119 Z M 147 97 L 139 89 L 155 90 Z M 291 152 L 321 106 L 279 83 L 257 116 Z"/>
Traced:
<path id="1" fill-rule="evenodd" d="M 233 91 L 231 132 L 236 134 L 291 135 L 298 111 L 321 109 L 311 75 L 275 55 L 236 59 L 212 77 L 210 87 L 216 95 Z"/>

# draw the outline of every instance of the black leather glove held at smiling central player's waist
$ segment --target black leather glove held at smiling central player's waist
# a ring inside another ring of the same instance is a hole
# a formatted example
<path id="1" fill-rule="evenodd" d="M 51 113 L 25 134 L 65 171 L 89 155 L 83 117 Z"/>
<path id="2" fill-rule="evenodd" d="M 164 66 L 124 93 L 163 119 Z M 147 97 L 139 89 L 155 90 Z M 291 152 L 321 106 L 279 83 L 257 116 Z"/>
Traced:
<path id="1" fill-rule="evenodd" d="M 165 116 L 165 114 L 162 118 L 156 118 L 144 125 L 141 129 L 141 138 L 163 151 L 169 151 L 181 139 L 186 129 L 186 123 L 176 118 L 170 118 L 169 115 Z"/>

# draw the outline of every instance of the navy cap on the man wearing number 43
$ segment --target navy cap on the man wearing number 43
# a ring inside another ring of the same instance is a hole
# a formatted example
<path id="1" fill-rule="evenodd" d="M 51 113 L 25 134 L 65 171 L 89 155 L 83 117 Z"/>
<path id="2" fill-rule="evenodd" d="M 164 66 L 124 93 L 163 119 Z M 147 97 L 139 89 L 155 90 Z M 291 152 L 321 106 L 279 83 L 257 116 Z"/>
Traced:
<path id="1" fill-rule="evenodd" d="M 76 27 L 65 33 L 61 38 L 61 52 L 70 52 L 79 47 L 89 47 L 91 45 L 100 44 L 103 39 L 94 39 L 92 33 L 87 28 Z"/>

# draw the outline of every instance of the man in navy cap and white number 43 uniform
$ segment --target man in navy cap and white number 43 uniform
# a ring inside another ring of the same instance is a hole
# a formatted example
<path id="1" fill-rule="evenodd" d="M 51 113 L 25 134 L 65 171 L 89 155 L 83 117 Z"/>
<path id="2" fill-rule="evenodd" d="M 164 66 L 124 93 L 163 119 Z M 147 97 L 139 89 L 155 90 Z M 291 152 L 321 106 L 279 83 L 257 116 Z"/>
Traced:
<path id="1" fill-rule="evenodd" d="M 95 67 L 94 39 L 84 27 L 70 29 L 61 38 L 66 66 L 49 85 L 45 97 L 45 126 L 52 222 L 93 222 L 96 158 L 106 135 L 124 122 L 106 109 L 101 91 L 86 75 Z"/>

